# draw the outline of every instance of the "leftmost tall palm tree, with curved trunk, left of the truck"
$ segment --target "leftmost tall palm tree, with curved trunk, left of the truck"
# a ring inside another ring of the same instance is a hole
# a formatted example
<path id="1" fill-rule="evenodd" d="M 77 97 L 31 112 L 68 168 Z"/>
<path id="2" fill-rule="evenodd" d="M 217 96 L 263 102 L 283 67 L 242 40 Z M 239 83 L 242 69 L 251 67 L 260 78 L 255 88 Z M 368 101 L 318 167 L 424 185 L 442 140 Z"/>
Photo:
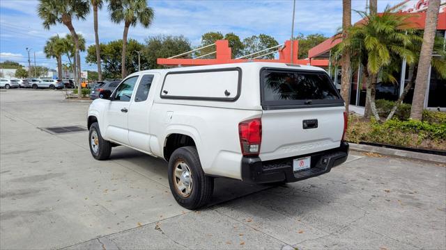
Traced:
<path id="1" fill-rule="evenodd" d="M 72 26 L 72 17 L 85 20 L 90 12 L 87 0 L 40 0 L 38 15 L 43 20 L 43 27 L 49 29 L 56 24 L 65 25 L 75 42 L 75 61 L 77 64 L 77 81 L 80 80 L 81 58 L 79 54 L 79 37 Z M 79 99 L 82 98 L 81 84 L 78 82 Z"/>

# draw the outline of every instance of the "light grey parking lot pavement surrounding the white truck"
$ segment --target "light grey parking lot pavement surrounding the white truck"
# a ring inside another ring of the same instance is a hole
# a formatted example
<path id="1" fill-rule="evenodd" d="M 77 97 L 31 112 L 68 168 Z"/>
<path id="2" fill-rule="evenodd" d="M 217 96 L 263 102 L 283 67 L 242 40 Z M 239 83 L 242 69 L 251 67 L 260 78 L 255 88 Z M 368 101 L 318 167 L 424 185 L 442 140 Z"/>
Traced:
<path id="1" fill-rule="evenodd" d="M 0 92 L 1 249 L 446 249 L 446 167 L 351 152 L 332 172 L 272 187 L 218 179 L 185 210 L 167 164 L 116 147 L 94 160 L 89 102 Z"/>

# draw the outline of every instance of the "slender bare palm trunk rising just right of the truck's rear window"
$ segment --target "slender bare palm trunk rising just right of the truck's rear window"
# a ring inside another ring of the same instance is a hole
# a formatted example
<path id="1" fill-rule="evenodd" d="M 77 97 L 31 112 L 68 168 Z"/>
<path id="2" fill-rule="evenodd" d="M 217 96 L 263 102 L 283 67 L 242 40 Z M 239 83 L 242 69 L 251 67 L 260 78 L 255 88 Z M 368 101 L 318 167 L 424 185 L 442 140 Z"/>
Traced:
<path id="1" fill-rule="evenodd" d="M 348 28 L 351 26 L 351 0 L 342 0 L 342 40 L 346 40 L 348 36 Z M 350 104 L 350 84 L 351 84 L 351 62 L 350 51 L 346 50 L 342 53 L 341 68 L 341 96 L 346 105 L 348 113 L 348 104 Z"/>

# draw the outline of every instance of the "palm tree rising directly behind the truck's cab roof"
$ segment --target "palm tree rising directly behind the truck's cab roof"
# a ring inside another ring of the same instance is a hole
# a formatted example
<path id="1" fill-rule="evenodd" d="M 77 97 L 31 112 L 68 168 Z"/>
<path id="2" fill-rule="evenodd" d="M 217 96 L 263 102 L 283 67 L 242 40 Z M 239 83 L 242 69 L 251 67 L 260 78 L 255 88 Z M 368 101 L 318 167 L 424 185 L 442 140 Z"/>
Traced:
<path id="1" fill-rule="evenodd" d="M 121 77 L 125 78 L 125 50 L 127 48 L 128 29 L 138 23 L 147 28 L 151 25 L 155 14 L 153 9 L 147 6 L 146 0 L 112 0 L 109 4 L 109 11 L 113 22 L 116 24 L 124 22 Z"/>

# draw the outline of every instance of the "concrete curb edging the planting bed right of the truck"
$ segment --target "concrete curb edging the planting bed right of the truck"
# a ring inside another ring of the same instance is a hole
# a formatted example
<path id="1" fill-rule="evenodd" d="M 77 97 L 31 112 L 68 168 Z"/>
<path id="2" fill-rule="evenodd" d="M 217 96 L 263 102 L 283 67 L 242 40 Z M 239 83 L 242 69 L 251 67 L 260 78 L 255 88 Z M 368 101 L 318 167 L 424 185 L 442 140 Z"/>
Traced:
<path id="1" fill-rule="evenodd" d="M 364 144 L 355 144 L 351 142 L 348 142 L 348 144 L 350 144 L 350 149 L 354 151 L 374 152 L 386 156 L 397 156 L 400 158 L 410 158 L 413 160 L 425 160 L 432 163 L 446 164 L 446 156 L 438 156 L 431 153 L 419 153 L 400 149 L 389 149 L 385 147 L 376 147 Z"/>

